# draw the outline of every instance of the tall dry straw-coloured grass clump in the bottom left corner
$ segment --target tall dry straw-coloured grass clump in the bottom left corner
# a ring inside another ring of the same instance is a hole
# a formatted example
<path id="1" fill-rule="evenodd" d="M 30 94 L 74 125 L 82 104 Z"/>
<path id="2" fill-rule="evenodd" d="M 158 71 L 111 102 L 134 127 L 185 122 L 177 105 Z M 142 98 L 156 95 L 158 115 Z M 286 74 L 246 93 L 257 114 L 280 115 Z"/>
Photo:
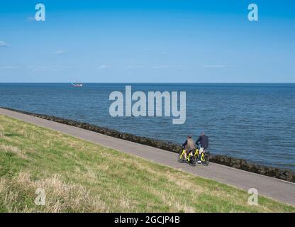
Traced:
<path id="1" fill-rule="evenodd" d="M 45 190 L 45 206 L 35 204 L 36 189 Z M 21 172 L 11 181 L 1 179 L 0 195 L 8 212 L 108 211 L 99 195 L 91 194 L 81 185 L 65 183 L 58 175 L 33 181 L 29 173 Z M 21 206 L 24 200 L 28 203 Z"/>

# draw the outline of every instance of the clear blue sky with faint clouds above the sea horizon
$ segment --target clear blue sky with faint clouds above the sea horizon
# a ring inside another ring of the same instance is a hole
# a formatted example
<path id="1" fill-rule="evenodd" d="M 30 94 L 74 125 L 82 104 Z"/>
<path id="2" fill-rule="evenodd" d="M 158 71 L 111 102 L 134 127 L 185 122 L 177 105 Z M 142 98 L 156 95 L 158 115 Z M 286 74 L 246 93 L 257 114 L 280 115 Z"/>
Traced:
<path id="1" fill-rule="evenodd" d="M 295 82 L 294 28 L 289 0 L 4 0 L 0 82 Z"/>

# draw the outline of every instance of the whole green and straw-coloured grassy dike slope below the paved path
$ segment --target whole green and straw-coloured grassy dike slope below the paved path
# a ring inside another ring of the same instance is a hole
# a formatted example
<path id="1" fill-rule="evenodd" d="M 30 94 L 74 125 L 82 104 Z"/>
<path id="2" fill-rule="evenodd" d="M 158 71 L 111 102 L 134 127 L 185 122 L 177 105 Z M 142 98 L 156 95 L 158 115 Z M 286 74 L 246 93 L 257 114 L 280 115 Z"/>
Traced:
<path id="1" fill-rule="evenodd" d="M 45 189 L 45 206 L 34 203 L 38 188 Z M 0 212 L 295 212 L 264 197 L 249 206 L 248 196 L 0 115 Z"/>

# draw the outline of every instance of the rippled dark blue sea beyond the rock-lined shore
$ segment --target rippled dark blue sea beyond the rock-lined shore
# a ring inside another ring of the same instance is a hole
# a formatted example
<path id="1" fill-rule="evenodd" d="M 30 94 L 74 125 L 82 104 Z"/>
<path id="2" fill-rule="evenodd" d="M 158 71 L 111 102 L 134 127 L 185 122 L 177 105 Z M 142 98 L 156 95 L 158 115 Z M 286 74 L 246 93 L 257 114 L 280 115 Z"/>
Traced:
<path id="1" fill-rule="evenodd" d="M 205 131 L 210 150 L 295 170 L 295 84 L 131 84 L 133 92 L 186 91 L 187 121 L 109 116 L 113 91 L 126 84 L 0 84 L 0 106 L 84 121 L 183 143 Z"/>

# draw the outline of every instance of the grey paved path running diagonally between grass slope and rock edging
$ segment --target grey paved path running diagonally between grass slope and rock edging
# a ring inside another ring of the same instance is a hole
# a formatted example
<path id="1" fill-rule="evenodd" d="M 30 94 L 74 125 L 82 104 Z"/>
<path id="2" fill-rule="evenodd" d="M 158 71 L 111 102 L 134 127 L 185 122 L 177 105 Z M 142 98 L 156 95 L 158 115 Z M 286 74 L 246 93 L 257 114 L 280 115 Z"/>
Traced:
<path id="1" fill-rule="evenodd" d="M 252 172 L 237 170 L 215 163 L 210 163 L 208 167 L 204 167 L 203 165 L 191 167 L 189 165 L 177 162 L 177 154 L 171 153 L 167 150 L 152 148 L 147 145 L 141 145 L 127 140 L 113 138 L 108 135 L 94 133 L 82 128 L 67 126 L 62 123 L 48 121 L 43 118 L 20 114 L 6 109 L 0 108 L 0 114 L 19 119 L 21 121 L 26 121 L 28 123 L 33 123 L 37 126 L 60 131 L 77 138 L 88 140 L 92 143 L 104 145 L 108 148 L 114 148 L 116 150 L 122 151 L 123 153 L 138 155 L 147 160 L 152 160 L 163 165 L 168 165 L 170 167 L 190 172 L 193 175 L 207 179 L 215 179 L 218 182 L 223 182 L 246 191 L 250 188 L 255 188 L 258 190 L 259 194 L 276 199 L 278 201 L 283 201 L 287 204 L 295 205 L 295 184 L 291 182 L 286 182 L 263 175 L 257 175 Z"/>

